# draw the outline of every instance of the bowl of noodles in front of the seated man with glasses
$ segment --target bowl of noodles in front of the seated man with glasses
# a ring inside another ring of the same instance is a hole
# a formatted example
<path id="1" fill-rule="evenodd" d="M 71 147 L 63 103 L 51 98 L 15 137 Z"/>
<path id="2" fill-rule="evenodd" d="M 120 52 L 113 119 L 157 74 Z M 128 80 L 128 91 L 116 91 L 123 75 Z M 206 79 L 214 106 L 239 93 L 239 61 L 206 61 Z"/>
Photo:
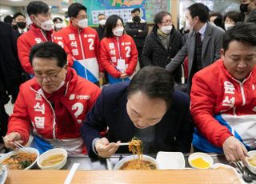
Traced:
<path id="1" fill-rule="evenodd" d="M 29 170 L 39 158 L 39 151 L 26 147 L 3 154 L 0 164 L 5 165 L 8 170 Z"/>

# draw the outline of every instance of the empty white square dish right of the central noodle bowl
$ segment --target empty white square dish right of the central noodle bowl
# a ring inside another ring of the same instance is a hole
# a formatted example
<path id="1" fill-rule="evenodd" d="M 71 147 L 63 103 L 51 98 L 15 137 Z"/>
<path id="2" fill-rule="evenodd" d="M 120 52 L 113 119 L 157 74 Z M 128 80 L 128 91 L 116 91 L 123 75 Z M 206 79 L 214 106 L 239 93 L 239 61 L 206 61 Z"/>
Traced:
<path id="1" fill-rule="evenodd" d="M 159 170 L 182 170 L 185 168 L 185 159 L 181 152 L 159 151 L 156 160 Z"/>

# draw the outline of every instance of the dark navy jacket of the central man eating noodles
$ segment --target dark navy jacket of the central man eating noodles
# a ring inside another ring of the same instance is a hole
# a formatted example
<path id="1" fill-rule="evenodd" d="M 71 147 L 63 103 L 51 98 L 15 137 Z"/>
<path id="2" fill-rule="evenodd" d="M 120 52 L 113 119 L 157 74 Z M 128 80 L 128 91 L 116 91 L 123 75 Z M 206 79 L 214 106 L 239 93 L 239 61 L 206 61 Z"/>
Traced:
<path id="1" fill-rule="evenodd" d="M 120 82 L 106 86 L 94 107 L 87 114 L 82 125 L 82 138 L 90 157 L 96 156 L 91 149 L 94 138 L 101 138 L 99 132 L 108 126 L 106 138 L 109 142 L 129 142 L 134 137 L 135 126 L 126 111 L 127 86 Z M 190 101 L 187 94 L 175 90 L 173 104 L 157 125 L 153 150 L 189 152 L 192 141 L 193 125 L 190 122 Z M 127 146 L 121 146 L 117 153 L 129 153 Z M 148 154 L 149 154 L 148 153 Z"/>

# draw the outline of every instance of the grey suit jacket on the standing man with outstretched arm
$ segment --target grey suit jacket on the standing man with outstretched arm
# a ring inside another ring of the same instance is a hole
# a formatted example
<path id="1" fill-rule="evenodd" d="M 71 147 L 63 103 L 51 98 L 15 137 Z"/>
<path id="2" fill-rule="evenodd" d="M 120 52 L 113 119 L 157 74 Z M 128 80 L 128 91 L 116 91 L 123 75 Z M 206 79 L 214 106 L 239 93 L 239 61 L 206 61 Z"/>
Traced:
<path id="1" fill-rule="evenodd" d="M 188 68 L 188 89 L 191 87 L 191 70 L 194 62 L 194 49 L 195 49 L 195 40 L 196 40 L 196 32 L 191 31 L 187 38 L 186 43 L 182 47 L 181 50 L 178 51 L 178 54 L 170 61 L 170 63 L 166 66 L 167 70 L 173 72 L 184 62 L 186 56 L 189 58 L 189 68 Z M 211 25 L 207 22 L 206 32 L 204 34 L 204 38 L 202 40 L 202 67 L 209 66 L 220 58 L 220 50 L 222 49 L 222 38 L 225 34 L 225 31 L 218 26 Z"/>

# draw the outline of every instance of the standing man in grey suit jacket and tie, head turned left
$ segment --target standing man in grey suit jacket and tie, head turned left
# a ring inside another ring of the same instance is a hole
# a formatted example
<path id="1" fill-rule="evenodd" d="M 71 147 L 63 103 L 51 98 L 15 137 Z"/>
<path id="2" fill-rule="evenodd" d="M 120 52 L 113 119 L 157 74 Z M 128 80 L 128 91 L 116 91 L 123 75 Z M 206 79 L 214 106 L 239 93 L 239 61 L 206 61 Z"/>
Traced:
<path id="1" fill-rule="evenodd" d="M 193 75 L 220 58 L 222 37 L 225 31 L 208 22 L 209 9 L 202 3 L 194 3 L 186 10 L 186 22 L 190 25 L 190 33 L 186 43 L 178 54 L 166 66 L 173 72 L 182 64 L 186 56 L 189 59 L 188 93 L 190 93 Z"/>

